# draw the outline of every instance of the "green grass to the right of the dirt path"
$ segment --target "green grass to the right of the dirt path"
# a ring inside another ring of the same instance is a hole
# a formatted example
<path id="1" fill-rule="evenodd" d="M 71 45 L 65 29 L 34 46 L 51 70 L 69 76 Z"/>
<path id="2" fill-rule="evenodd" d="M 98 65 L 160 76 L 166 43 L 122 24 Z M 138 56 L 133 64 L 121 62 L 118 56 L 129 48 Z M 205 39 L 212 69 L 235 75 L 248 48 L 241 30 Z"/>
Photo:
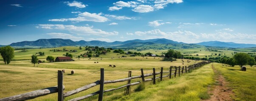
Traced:
<path id="1" fill-rule="evenodd" d="M 246 66 L 247 71 L 241 71 L 239 66 L 222 66 L 222 64 L 214 63 L 214 68 L 219 70 L 229 86 L 235 93 L 234 99 L 236 101 L 255 101 L 256 99 L 256 69 Z"/>

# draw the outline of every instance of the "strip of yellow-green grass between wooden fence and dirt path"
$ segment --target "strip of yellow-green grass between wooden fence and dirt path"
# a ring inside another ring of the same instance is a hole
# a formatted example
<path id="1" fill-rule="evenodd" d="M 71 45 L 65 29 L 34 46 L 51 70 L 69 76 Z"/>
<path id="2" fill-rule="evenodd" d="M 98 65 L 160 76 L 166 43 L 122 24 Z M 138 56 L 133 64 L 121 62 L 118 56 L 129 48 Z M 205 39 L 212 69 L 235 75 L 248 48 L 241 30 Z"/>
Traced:
<path id="1" fill-rule="evenodd" d="M 132 90 L 130 96 L 117 94 L 104 97 L 105 101 L 200 101 L 208 99 L 208 86 L 214 84 L 214 72 L 207 64 L 181 77 L 164 79 L 152 85 L 145 83 L 145 89 L 139 92 Z M 136 87 L 132 87 L 135 89 Z"/>

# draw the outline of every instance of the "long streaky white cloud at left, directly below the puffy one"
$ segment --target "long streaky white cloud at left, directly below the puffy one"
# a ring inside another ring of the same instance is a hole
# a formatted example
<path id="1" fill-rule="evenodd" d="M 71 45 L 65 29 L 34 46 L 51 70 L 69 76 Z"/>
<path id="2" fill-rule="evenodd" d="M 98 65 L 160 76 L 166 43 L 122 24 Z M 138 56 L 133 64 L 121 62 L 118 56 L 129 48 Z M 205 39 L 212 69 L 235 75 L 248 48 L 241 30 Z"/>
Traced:
<path id="1" fill-rule="evenodd" d="M 68 30 L 70 33 L 75 33 L 77 35 L 118 35 L 118 32 L 105 32 L 101 29 L 94 29 L 93 27 L 84 27 L 84 26 L 74 26 L 74 25 L 63 25 L 63 24 L 39 24 L 43 29 L 59 29 L 59 30 Z"/>

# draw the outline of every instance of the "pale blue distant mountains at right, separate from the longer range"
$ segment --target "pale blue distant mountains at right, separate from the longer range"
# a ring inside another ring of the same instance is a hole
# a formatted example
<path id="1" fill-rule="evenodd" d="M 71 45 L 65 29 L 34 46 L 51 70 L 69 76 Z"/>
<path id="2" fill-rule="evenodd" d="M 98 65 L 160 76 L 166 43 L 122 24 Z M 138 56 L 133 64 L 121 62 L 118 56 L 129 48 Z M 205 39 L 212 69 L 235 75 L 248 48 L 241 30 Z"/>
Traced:
<path id="1" fill-rule="evenodd" d="M 204 46 L 226 47 L 226 48 L 251 48 L 251 47 L 256 47 L 255 44 L 243 44 L 243 43 L 220 42 L 220 41 L 208 41 L 208 42 L 195 43 L 195 44 L 204 45 Z"/>

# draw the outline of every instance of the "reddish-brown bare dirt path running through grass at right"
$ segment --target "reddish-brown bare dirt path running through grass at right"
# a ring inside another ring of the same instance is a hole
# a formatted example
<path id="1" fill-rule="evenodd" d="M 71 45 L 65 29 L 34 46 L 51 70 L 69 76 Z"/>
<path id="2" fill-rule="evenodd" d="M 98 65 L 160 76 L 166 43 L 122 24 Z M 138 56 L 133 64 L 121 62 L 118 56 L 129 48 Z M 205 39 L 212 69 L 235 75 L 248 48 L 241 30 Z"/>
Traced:
<path id="1" fill-rule="evenodd" d="M 208 91 L 208 93 L 211 94 L 211 98 L 202 101 L 233 101 L 231 98 L 231 96 L 233 96 L 233 92 L 231 91 L 231 88 L 228 87 L 228 82 L 213 65 L 212 69 L 214 70 L 217 85 L 214 87 L 214 90 Z M 208 88 L 208 90 L 209 89 L 210 88 Z"/>

